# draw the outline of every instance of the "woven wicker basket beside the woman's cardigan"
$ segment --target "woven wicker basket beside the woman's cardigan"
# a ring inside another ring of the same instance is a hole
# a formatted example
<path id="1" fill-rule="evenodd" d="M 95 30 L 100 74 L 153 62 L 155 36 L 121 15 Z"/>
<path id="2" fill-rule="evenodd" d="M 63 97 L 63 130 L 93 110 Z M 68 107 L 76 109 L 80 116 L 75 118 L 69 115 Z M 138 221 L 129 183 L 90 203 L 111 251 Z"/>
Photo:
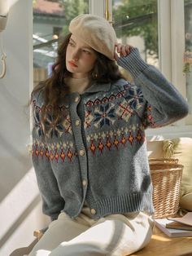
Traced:
<path id="1" fill-rule="evenodd" d="M 154 218 L 166 218 L 177 214 L 181 195 L 183 166 L 177 159 L 149 159 L 153 184 Z"/>

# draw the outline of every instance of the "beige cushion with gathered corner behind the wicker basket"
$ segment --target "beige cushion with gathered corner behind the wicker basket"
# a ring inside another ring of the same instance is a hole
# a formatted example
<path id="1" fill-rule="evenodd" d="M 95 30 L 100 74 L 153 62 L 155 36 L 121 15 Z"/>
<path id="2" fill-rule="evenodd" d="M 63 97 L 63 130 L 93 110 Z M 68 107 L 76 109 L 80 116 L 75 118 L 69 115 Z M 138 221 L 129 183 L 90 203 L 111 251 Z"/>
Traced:
<path id="1" fill-rule="evenodd" d="M 164 140 L 164 157 L 174 157 L 184 166 L 181 181 L 181 208 L 192 211 L 192 139 Z"/>

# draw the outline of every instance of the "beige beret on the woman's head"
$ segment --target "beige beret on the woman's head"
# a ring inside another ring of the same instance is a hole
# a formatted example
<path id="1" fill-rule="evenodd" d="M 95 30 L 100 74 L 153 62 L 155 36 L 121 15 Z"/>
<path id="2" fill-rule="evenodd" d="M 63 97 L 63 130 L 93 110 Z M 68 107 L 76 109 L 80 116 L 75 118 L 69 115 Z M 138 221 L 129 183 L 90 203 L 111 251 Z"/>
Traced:
<path id="1" fill-rule="evenodd" d="M 98 15 L 78 15 L 70 22 L 68 29 L 95 51 L 114 60 L 116 32 L 107 20 Z"/>

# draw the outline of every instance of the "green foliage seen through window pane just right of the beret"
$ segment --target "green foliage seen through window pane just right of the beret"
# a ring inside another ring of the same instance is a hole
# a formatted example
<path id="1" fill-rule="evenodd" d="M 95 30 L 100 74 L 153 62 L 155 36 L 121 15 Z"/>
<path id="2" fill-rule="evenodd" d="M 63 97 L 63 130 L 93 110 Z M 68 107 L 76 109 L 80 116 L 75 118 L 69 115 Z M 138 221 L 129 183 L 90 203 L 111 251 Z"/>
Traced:
<path id="1" fill-rule="evenodd" d="M 122 0 L 114 5 L 113 20 L 117 36 L 140 36 L 149 54 L 158 56 L 157 0 Z"/>

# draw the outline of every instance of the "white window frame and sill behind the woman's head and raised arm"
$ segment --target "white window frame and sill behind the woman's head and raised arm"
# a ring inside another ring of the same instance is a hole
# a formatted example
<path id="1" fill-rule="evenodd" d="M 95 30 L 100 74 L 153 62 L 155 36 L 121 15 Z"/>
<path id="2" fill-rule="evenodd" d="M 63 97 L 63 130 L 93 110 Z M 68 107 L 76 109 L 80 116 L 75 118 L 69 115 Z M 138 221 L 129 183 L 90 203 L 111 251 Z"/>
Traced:
<path id="1" fill-rule="evenodd" d="M 112 21 L 112 0 L 89 0 L 89 12 L 103 17 L 108 15 L 109 21 Z M 159 69 L 186 98 L 186 81 L 183 73 L 183 54 L 185 51 L 184 0 L 158 0 L 158 24 Z M 191 125 L 186 125 L 187 122 Z M 148 129 L 146 135 L 149 138 L 155 136 L 163 138 L 188 136 L 192 138 L 192 117 L 191 115 L 185 117 L 172 126 Z"/>

